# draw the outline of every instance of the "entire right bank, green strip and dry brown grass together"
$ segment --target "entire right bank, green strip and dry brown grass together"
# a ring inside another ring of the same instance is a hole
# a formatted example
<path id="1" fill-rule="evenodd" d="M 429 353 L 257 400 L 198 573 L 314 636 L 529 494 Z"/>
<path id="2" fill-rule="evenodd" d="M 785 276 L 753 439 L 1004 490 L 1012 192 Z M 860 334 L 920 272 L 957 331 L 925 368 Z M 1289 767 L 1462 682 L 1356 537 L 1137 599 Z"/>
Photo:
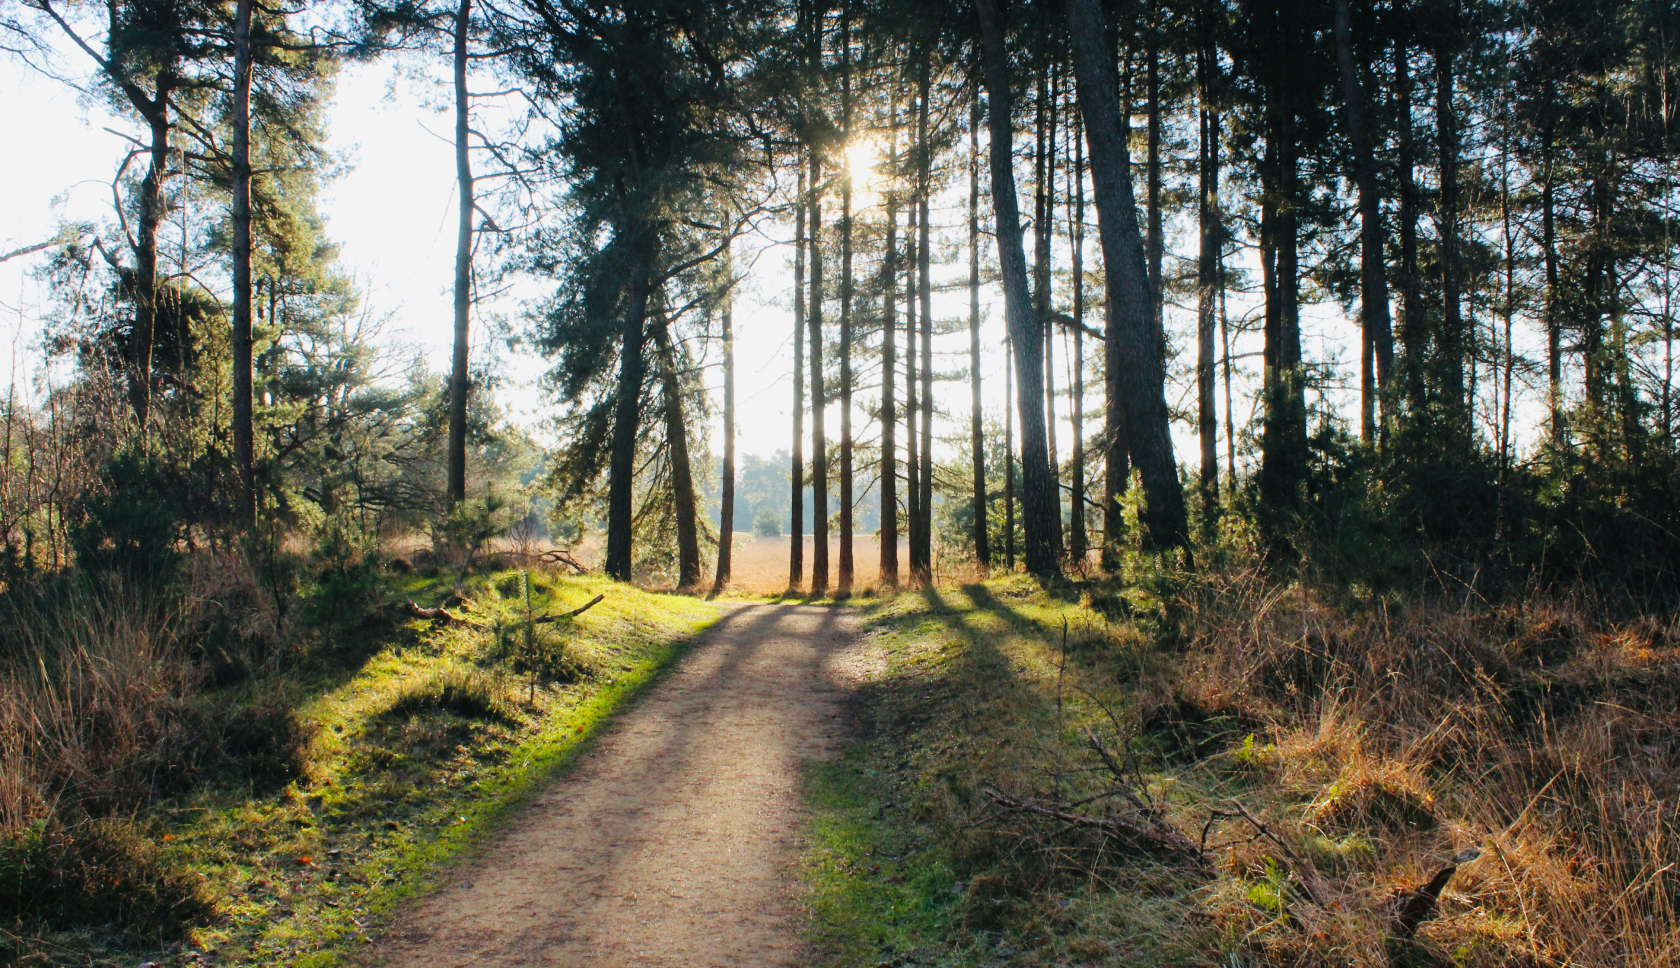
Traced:
<path id="1" fill-rule="evenodd" d="M 828 963 L 1680 963 L 1672 620 L 1154 585 L 864 607 L 885 672 L 806 776 Z"/>

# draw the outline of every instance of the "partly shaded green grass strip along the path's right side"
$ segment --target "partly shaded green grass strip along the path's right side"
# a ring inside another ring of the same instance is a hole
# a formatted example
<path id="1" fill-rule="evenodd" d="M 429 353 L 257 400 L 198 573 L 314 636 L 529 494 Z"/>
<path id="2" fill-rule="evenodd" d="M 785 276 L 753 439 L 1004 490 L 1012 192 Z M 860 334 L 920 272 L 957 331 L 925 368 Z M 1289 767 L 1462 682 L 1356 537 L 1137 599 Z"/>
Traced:
<path id="1" fill-rule="evenodd" d="M 822 963 L 1198 963 L 1169 939 L 1183 902 L 1147 889 L 1158 865 L 1127 884 L 1023 869 L 981 823 L 983 781 L 1032 785 L 1035 755 L 1094 723 L 1097 697 L 1127 702 L 1116 676 L 1137 681 L 1152 666 L 1132 649 L 1141 639 L 1023 580 L 902 593 L 860 617 L 885 671 L 865 687 L 860 736 L 805 775 Z M 1099 637 L 1124 647 L 1097 649 Z M 1060 679 L 1089 696 L 1062 689 L 1058 709 Z"/>

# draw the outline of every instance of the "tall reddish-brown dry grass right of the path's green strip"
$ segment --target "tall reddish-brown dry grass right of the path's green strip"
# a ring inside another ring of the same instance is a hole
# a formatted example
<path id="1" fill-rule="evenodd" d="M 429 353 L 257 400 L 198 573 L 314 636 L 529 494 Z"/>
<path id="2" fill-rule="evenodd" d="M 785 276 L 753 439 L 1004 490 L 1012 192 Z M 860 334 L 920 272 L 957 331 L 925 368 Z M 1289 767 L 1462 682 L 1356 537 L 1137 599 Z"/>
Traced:
<path id="1" fill-rule="evenodd" d="M 1396 892 L 1463 847 L 1423 950 L 1467 965 L 1680 963 L 1680 637 L 1579 598 L 1349 615 L 1226 575 L 1186 597 L 1181 696 L 1268 723 L 1240 756 L 1329 887 L 1273 961 L 1393 955 Z M 1213 766 L 1225 766 L 1215 763 Z M 1233 795 L 1238 792 L 1233 790 Z M 1263 867 L 1235 850 L 1231 884 Z M 1221 919 L 1245 897 L 1215 892 Z"/>

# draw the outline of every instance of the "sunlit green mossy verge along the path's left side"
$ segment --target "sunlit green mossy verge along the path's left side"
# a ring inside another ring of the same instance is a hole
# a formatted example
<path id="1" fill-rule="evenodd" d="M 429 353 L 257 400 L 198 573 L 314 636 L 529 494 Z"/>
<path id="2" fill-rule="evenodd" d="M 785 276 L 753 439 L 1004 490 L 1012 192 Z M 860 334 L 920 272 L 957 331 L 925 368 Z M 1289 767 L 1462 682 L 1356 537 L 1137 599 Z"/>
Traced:
<path id="1" fill-rule="evenodd" d="M 301 775 L 284 786 L 207 783 L 129 823 L 171 876 L 202 881 L 195 896 L 208 916 L 163 951 L 99 926 L 18 923 L 10 955 L 39 965 L 341 963 L 716 617 L 692 598 L 598 578 L 529 580 L 536 615 L 606 598 L 526 637 L 524 573 L 482 575 L 457 612 L 470 625 L 413 620 L 375 642 L 324 642 L 314 660 L 223 691 L 282 697 L 306 741 Z M 405 585 L 422 602 L 447 590 Z"/>

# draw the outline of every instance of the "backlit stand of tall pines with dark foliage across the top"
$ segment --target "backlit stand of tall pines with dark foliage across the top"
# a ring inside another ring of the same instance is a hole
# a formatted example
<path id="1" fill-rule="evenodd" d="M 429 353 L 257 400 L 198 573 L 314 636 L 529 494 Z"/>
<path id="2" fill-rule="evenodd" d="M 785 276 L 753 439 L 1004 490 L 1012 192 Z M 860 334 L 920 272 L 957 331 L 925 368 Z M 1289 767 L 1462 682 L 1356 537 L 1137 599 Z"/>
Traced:
<path id="1" fill-rule="evenodd" d="M 736 387 L 739 289 L 786 249 L 790 588 L 857 590 L 872 523 L 884 587 L 1016 548 L 1040 578 L 1231 541 L 1359 580 L 1680 561 L 1670 3 L 27 0 L 0 25 L 136 124 L 113 224 L 45 272 L 81 286 L 57 346 L 106 402 L 87 466 L 212 496 L 181 534 L 338 513 L 301 454 L 398 412 L 447 429 L 442 494 L 403 501 L 470 516 L 469 321 L 521 272 L 549 291 L 526 334 L 554 521 L 627 580 L 699 588 L 717 548 L 722 592 L 707 388 Z M 418 383 L 348 405 L 311 361 L 373 341 L 312 205 L 336 66 L 393 50 L 454 77 L 432 410 Z M 213 229 L 175 244 L 188 210 Z"/>

